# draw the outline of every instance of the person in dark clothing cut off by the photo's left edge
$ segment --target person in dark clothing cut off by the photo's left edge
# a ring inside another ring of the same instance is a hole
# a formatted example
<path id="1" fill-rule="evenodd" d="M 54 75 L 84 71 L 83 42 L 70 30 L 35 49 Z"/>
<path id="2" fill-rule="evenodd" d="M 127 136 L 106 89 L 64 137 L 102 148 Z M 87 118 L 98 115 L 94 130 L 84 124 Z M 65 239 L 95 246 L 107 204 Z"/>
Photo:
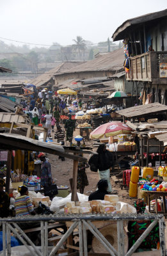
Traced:
<path id="1" fill-rule="evenodd" d="M 3 179 L 0 179 L 0 218 L 9 216 L 10 197 L 8 193 L 3 191 L 6 186 Z"/>

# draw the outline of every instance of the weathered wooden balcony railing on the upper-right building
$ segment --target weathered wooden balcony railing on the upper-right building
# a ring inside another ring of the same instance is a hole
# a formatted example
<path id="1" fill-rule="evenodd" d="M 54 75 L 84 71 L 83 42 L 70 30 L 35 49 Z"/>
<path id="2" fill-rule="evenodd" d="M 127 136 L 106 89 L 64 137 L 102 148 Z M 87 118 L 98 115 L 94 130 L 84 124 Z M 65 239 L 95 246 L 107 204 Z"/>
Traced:
<path id="1" fill-rule="evenodd" d="M 145 52 L 130 58 L 128 81 L 167 83 L 167 51 Z"/>

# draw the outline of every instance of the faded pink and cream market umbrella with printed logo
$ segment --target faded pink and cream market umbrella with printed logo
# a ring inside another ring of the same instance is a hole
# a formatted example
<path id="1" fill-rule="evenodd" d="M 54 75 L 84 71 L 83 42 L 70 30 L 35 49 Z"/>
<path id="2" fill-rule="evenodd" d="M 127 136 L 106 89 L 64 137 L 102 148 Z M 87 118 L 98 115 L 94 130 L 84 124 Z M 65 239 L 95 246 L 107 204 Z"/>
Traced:
<path id="1" fill-rule="evenodd" d="M 102 124 L 91 132 L 91 139 L 107 138 L 118 134 L 129 134 L 132 129 L 121 122 L 110 122 Z"/>

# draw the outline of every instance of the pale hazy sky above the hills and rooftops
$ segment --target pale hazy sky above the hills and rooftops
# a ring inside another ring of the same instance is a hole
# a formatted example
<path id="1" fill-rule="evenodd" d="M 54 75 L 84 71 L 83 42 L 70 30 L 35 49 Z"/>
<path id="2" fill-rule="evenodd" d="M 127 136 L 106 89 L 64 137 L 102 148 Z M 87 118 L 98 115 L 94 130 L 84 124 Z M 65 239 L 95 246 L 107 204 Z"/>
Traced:
<path id="1" fill-rule="evenodd" d="M 167 0 L 0 0 L 0 37 L 67 45 L 79 35 L 97 43 L 123 21 L 166 8 Z"/>

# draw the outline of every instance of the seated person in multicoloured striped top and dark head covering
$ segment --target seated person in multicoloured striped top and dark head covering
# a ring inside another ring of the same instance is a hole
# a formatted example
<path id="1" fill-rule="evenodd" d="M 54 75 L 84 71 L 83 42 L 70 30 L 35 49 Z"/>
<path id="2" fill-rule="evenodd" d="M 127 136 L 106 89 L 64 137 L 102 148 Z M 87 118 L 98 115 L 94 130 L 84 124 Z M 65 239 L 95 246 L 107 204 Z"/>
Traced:
<path id="1" fill-rule="evenodd" d="M 15 199 L 16 216 L 35 215 L 31 199 L 28 196 L 28 188 L 23 185 L 18 188 L 18 191 L 20 192 L 20 196 Z"/>

